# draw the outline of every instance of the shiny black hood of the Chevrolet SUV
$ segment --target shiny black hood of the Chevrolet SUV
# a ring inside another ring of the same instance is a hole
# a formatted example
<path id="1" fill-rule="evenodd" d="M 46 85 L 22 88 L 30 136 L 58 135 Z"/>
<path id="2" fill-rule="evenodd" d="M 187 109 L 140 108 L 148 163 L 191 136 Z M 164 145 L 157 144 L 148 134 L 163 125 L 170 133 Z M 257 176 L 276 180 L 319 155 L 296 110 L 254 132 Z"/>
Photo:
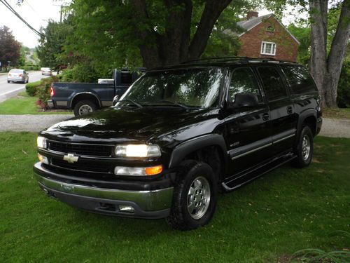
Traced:
<path id="1" fill-rule="evenodd" d="M 169 133 L 174 135 L 184 127 L 197 127 L 212 118 L 209 112 L 209 109 L 186 112 L 155 107 L 109 108 L 62 121 L 41 134 L 52 140 L 76 142 L 148 142 Z"/>

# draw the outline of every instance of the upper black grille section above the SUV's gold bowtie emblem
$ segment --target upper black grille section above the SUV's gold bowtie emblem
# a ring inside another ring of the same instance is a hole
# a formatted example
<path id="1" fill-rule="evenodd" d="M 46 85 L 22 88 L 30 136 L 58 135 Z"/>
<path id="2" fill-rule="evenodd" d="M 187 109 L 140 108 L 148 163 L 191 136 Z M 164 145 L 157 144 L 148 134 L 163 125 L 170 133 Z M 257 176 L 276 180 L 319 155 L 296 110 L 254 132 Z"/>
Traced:
<path id="1" fill-rule="evenodd" d="M 80 144 L 71 142 L 56 142 L 48 140 L 48 149 L 64 153 L 87 155 L 87 156 L 111 156 L 111 145 Z"/>

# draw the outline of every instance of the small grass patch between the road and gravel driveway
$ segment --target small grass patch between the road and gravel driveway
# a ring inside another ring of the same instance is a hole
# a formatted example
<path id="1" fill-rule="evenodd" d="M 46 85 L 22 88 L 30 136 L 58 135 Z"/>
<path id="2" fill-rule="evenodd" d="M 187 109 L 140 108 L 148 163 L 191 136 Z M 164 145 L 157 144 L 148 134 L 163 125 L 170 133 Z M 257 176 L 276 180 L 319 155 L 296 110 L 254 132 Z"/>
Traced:
<path id="1" fill-rule="evenodd" d="M 68 111 L 42 112 L 35 104 L 37 97 L 29 97 L 27 93 L 19 93 L 19 95 L 1 102 L 0 114 L 71 114 Z"/>

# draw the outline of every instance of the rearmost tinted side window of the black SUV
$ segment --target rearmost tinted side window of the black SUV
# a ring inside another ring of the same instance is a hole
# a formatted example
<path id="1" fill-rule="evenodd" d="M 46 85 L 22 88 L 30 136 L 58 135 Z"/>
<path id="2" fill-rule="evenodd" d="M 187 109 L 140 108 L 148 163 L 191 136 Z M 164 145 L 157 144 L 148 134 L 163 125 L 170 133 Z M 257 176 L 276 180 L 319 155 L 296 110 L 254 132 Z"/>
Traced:
<path id="1" fill-rule="evenodd" d="M 281 66 L 293 93 L 307 93 L 316 90 L 311 75 L 304 67 Z"/>

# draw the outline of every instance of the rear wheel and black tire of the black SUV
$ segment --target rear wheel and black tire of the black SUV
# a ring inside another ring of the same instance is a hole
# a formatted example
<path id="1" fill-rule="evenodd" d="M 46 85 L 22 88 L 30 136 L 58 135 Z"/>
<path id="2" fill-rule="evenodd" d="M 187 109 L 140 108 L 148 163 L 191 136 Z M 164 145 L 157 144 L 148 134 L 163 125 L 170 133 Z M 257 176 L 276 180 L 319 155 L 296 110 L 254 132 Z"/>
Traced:
<path id="1" fill-rule="evenodd" d="M 293 160 L 293 165 L 298 168 L 309 166 L 314 155 L 314 135 L 309 126 L 304 126 L 300 133 L 295 149 L 297 158 Z"/>

